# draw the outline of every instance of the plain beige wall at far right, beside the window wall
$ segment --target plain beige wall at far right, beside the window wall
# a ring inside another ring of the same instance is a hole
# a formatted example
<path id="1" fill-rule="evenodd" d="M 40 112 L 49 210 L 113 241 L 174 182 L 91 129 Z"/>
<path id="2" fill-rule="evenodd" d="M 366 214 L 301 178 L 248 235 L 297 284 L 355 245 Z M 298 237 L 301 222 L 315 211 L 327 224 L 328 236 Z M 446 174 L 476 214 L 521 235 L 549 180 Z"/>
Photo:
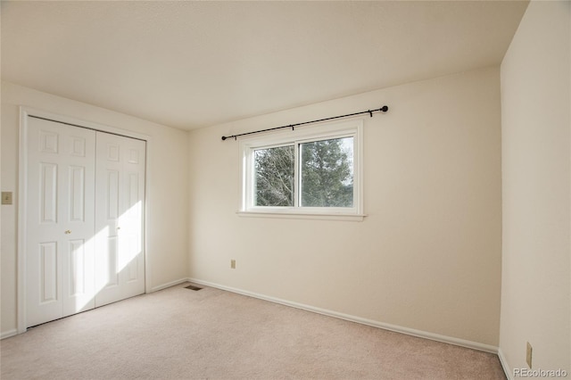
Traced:
<path id="1" fill-rule="evenodd" d="M 571 3 L 529 4 L 501 64 L 500 349 L 509 372 L 571 374 Z"/>

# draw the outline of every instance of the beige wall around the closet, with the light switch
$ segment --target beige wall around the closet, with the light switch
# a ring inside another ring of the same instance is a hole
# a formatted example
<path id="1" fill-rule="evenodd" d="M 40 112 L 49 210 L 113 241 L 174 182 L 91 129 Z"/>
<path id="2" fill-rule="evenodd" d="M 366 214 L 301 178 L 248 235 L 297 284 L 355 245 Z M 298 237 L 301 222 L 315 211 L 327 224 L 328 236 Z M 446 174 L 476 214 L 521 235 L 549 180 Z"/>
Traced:
<path id="1" fill-rule="evenodd" d="M 16 328 L 19 106 L 151 136 L 147 189 L 151 288 L 187 276 L 187 133 L 85 103 L 2 82 L 2 191 L 14 192 L 14 205 L 2 206 L 2 335 Z"/>

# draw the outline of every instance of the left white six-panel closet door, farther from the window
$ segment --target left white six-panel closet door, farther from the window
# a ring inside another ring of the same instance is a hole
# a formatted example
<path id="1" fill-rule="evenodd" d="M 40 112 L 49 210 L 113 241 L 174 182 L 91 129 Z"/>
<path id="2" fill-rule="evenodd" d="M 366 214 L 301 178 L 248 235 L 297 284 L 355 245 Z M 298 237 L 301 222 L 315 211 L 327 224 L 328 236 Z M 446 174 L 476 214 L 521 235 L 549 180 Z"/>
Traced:
<path id="1" fill-rule="evenodd" d="M 95 131 L 28 118 L 27 326 L 94 308 Z"/>

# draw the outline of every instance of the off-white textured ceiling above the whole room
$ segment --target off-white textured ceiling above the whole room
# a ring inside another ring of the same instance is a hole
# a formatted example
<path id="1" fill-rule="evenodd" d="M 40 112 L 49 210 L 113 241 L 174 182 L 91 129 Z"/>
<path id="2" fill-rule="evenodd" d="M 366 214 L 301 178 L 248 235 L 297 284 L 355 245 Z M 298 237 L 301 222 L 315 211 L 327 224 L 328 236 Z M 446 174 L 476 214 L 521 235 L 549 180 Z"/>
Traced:
<path id="1" fill-rule="evenodd" d="M 497 65 L 526 6 L 2 1 L 2 78 L 200 128 Z"/>

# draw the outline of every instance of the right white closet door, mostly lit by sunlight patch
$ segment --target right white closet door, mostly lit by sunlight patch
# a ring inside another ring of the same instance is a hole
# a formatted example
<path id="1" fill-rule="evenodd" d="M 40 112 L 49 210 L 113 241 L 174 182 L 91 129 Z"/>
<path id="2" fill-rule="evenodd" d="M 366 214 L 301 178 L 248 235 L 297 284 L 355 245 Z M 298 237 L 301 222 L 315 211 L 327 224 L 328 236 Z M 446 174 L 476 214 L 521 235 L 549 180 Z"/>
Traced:
<path id="1" fill-rule="evenodd" d="M 95 306 L 145 293 L 145 148 L 96 136 Z"/>

